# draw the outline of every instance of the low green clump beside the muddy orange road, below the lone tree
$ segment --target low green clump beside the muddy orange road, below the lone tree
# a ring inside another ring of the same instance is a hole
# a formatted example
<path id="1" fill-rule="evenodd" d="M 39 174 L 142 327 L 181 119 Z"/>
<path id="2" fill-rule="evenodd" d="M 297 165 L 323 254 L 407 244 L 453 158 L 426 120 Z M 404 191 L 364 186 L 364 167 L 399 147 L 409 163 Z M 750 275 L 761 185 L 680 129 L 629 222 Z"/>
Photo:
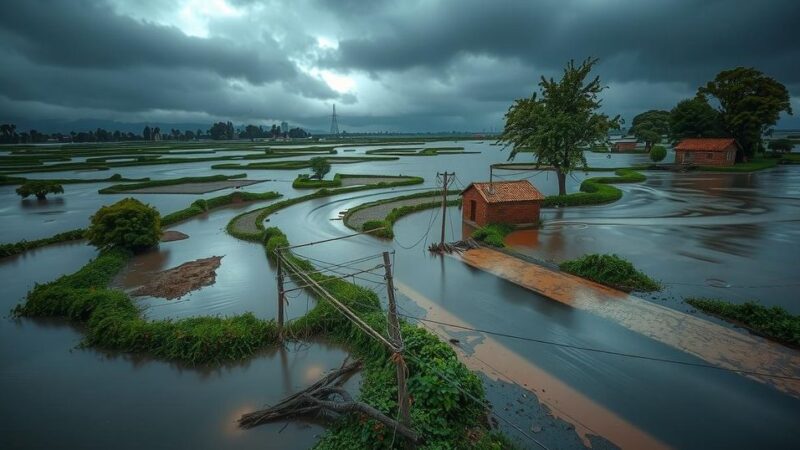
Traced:
<path id="1" fill-rule="evenodd" d="M 617 255 L 589 254 L 559 264 L 564 272 L 623 291 L 660 291 L 661 284 Z"/>

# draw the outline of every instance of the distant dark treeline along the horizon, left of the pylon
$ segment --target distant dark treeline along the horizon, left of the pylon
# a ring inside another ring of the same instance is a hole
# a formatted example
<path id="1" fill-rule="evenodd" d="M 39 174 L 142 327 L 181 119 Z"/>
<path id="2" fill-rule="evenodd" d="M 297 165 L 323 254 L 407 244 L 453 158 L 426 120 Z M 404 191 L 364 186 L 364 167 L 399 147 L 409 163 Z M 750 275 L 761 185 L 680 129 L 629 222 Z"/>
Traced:
<path id="1" fill-rule="evenodd" d="M 284 132 L 277 124 L 271 128 L 263 126 L 247 125 L 244 128 L 235 129 L 231 122 L 217 122 L 206 131 L 200 130 L 179 130 L 173 128 L 169 131 L 162 131 L 160 127 L 145 126 L 140 134 L 123 132 L 119 130 L 110 131 L 97 128 L 89 131 L 70 131 L 69 133 L 41 133 L 31 129 L 28 131 L 17 131 L 15 124 L 0 125 L 0 144 L 41 144 L 46 142 L 125 142 L 125 141 L 192 141 L 197 139 L 276 139 L 293 138 L 302 139 L 309 137 L 309 134 L 302 128 L 292 128 Z"/>

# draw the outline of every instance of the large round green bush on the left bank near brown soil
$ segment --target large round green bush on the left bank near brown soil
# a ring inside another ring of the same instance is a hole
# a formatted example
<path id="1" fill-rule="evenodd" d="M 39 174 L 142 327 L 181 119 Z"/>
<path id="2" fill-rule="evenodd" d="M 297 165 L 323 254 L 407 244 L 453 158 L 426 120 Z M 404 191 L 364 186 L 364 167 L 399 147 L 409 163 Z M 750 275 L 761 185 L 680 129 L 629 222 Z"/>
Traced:
<path id="1" fill-rule="evenodd" d="M 101 250 L 112 247 L 144 250 L 158 245 L 161 216 L 150 205 L 134 198 L 124 198 L 113 205 L 103 206 L 91 217 L 86 238 Z"/>

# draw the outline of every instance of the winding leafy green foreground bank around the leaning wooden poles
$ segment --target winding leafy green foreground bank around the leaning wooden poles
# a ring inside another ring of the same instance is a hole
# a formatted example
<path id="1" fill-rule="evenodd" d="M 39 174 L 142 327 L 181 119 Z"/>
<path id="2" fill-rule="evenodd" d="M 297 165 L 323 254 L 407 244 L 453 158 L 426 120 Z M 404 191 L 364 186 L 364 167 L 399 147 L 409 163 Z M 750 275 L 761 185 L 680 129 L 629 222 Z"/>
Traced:
<path id="1" fill-rule="evenodd" d="M 267 255 L 288 245 L 277 228 L 265 232 Z M 248 359 L 277 345 L 277 326 L 251 313 L 233 317 L 195 317 L 148 321 L 131 298 L 109 289 L 112 278 L 130 254 L 109 250 L 71 275 L 37 285 L 16 316 L 61 317 L 83 325 L 83 345 L 143 354 L 190 365 L 219 365 Z M 315 271 L 306 260 L 286 252 L 305 271 L 370 327 L 387 330 L 386 315 L 377 294 L 369 289 Z M 299 280 L 298 280 L 299 281 Z M 508 448 L 510 443 L 484 424 L 485 399 L 478 377 L 458 361 L 455 352 L 422 328 L 401 323 L 408 368 L 408 389 L 414 399 L 412 427 L 424 437 L 421 448 Z M 390 417 L 397 414 L 395 366 L 389 351 L 355 327 L 329 302 L 320 301 L 305 316 L 287 324 L 291 339 L 324 337 L 346 346 L 364 363 L 359 400 Z M 443 382 L 442 374 L 447 381 Z M 477 399 L 477 401 L 475 400 Z M 392 430 L 374 420 L 347 415 L 322 436 L 317 448 L 401 447 Z"/>

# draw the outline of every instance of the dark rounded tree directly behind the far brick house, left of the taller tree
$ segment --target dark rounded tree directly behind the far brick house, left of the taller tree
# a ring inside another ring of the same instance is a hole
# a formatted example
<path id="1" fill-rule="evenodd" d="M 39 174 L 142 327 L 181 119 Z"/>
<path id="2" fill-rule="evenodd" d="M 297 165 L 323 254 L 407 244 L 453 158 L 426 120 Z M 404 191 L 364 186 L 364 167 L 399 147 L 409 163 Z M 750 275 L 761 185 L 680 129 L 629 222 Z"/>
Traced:
<path id="1" fill-rule="evenodd" d="M 669 113 L 670 137 L 683 138 L 721 137 L 725 135 L 719 113 L 704 97 L 681 100 Z"/>

